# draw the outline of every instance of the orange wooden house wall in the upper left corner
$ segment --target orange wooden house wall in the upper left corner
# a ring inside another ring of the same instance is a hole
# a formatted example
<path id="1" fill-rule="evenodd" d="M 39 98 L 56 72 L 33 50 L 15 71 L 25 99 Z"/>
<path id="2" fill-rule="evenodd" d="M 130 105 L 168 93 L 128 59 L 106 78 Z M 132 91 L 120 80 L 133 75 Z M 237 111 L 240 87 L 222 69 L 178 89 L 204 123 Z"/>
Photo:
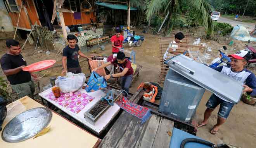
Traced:
<path id="1" fill-rule="evenodd" d="M 31 25 L 34 25 L 35 22 L 37 22 L 37 24 L 41 26 L 33 0 L 26 1 L 28 3 L 26 3 L 26 5 L 23 5 L 22 7 L 18 27 L 24 29 L 31 29 Z M 21 6 L 21 0 L 17 0 L 17 3 L 19 6 Z M 13 26 L 16 27 L 19 18 L 19 12 L 10 12 L 9 15 L 12 19 Z"/>

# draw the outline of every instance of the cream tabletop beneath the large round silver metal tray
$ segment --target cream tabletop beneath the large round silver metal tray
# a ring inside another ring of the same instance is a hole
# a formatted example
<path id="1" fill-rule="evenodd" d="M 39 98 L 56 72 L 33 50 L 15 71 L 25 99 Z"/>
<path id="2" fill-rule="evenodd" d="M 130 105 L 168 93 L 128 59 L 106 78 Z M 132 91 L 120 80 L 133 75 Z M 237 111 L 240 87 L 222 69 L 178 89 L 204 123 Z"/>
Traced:
<path id="1" fill-rule="evenodd" d="M 25 96 L 7 105 L 7 117 L 3 127 L 16 115 L 31 108 L 44 107 L 40 103 Z M 92 148 L 97 147 L 100 139 L 76 126 L 72 122 L 52 112 L 50 131 L 38 138 L 30 138 L 19 143 L 7 143 L 0 138 L 1 148 Z M 0 132 L 2 134 L 2 131 Z"/>

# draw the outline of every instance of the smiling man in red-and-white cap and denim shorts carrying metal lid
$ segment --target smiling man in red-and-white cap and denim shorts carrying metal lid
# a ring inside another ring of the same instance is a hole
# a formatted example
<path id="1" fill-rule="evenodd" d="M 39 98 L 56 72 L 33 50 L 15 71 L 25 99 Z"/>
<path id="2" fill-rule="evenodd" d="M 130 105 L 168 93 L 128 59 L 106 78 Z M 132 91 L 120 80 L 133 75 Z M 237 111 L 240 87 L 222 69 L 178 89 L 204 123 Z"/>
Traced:
<path id="1" fill-rule="evenodd" d="M 256 95 L 256 77 L 251 71 L 244 68 L 251 59 L 251 54 L 246 50 L 241 50 L 235 54 L 228 55 L 228 57 L 231 58 L 230 66 L 220 66 L 215 68 L 215 70 L 232 77 L 236 81 L 245 83 L 244 92 L 251 96 Z M 218 132 L 220 126 L 227 120 L 234 103 L 229 102 L 216 94 L 211 95 L 206 103 L 207 109 L 204 112 L 204 120 L 200 124 L 197 124 L 197 127 L 206 126 L 211 113 L 219 104 L 220 109 L 218 112 L 217 124 L 213 126 L 210 133 L 216 134 Z"/>

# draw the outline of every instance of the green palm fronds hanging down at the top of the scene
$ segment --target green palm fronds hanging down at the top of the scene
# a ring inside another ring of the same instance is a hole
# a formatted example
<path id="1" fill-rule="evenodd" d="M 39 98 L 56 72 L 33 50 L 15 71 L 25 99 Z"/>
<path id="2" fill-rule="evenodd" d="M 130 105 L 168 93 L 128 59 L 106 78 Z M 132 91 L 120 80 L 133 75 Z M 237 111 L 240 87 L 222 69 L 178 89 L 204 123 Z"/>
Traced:
<path id="1" fill-rule="evenodd" d="M 189 7 L 189 13 L 194 13 L 199 24 L 202 24 L 206 31 L 213 36 L 213 21 L 209 14 L 211 5 L 207 0 L 145 0 L 145 15 L 149 21 L 154 15 L 164 13 L 168 15 L 167 29 L 172 28 L 172 24 L 176 19 L 179 19 L 182 11 L 182 2 Z"/>

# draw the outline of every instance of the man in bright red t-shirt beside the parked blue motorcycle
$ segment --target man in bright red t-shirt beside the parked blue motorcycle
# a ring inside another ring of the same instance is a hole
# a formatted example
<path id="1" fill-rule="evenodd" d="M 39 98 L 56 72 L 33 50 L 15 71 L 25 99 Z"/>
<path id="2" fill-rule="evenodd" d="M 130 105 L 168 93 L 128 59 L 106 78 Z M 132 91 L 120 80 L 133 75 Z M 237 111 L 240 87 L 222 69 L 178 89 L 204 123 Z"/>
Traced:
<path id="1" fill-rule="evenodd" d="M 121 30 L 116 30 L 116 34 L 111 37 L 112 53 L 118 53 L 119 49 L 123 47 L 124 36 L 121 35 Z"/>

